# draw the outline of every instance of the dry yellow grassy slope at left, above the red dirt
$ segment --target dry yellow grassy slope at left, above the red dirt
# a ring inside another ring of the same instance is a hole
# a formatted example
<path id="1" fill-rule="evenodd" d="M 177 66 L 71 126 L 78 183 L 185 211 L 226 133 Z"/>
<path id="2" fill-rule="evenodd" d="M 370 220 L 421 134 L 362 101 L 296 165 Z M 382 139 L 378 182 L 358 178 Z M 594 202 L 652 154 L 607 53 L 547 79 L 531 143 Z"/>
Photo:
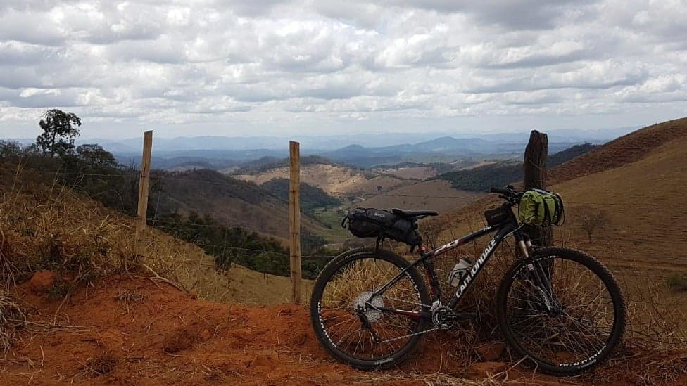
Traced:
<path id="1" fill-rule="evenodd" d="M 140 260 L 152 271 L 134 268 L 132 217 L 68 188 L 44 184 L 43 176 L 32 170 L 2 166 L 0 257 L 4 265 L 0 278 L 4 284 L 26 281 L 34 271 L 51 270 L 56 280 L 47 290 L 61 299 L 76 288 L 128 269 L 168 278 L 207 300 L 259 304 L 288 300 L 289 278 L 239 265 L 229 271 L 215 269 L 214 257 L 200 247 L 156 229 L 146 230 L 147 243 Z M 304 281 L 304 290 L 310 285 Z"/>

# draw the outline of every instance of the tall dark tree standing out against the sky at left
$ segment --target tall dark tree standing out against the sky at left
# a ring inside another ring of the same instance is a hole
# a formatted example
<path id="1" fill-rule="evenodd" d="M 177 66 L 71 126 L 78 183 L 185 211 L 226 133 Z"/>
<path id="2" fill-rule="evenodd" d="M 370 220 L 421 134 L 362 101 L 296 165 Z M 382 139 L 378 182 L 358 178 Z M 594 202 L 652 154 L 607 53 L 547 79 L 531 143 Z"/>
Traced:
<path id="1" fill-rule="evenodd" d="M 44 155 L 65 157 L 74 153 L 74 139 L 79 136 L 81 119 L 73 112 L 53 108 L 43 113 L 38 125 L 43 134 L 36 138 L 38 147 Z"/>

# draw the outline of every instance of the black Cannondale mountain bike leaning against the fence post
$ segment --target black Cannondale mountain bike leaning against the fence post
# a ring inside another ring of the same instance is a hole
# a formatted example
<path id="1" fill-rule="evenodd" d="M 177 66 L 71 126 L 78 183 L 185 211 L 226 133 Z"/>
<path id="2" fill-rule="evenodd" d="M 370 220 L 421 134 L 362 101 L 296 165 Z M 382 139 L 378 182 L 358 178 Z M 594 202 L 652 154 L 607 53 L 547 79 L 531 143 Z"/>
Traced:
<path id="1" fill-rule="evenodd" d="M 496 247 L 512 235 L 521 256 L 500 282 L 496 315 L 515 354 L 553 375 L 578 375 L 610 358 L 622 345 L 626 325 L 622 291 L 610 271 L 579 250 L 534 247 L 512 210 L 522 192 L 508 186 L 491 188 L 491 193 L 505 200 L 496 224 L 434 250 L 421 245 L 414 262 L 379 247 L 363 247 L 324 266 L 313 288 L 310 319 L 327 351 L 354 368 L 389 368 L 407 359 L 424 333 L 476 319 L 474 312 L 454 309 Z M 415 220 L 437 215 L 393 213 Z M 442 304 L 432 259 L 492 232 L 496 234 L 460 278 L 453 297 Z"/>

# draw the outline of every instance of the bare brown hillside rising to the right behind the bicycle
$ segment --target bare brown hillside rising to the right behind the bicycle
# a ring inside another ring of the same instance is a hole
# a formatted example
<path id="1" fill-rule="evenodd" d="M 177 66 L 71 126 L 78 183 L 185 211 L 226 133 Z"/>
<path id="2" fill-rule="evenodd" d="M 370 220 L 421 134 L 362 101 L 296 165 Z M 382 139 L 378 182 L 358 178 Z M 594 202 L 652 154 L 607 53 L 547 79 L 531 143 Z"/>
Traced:
<path id="1" fill-rule="evenodd" d="M 655 124 L 622 136 L 549 171 L 550 189 L 566 202 L 566 222 L 556 227 L 561 243 L 577 245 L 620 268 L 649 269 L 665 275 L 687 271 L 687 118 Z M 481 212 L 493 197 L 431 220 L 462 234 L 481 226 Z M 605 225 L 591 242 L 581 213 L 602 213 Z"/>

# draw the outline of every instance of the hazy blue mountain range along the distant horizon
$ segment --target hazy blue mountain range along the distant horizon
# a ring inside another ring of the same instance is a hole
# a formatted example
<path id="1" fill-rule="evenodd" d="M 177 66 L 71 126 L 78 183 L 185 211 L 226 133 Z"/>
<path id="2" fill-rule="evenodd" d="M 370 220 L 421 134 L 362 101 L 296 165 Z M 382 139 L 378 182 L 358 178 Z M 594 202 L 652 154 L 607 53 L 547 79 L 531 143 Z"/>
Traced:
<path id="1" fill-rule="evenodd" d="M 548 131 L 549 152 L 578 143 L 604 143 L 634 130 L 632 127 L 598 130 Z M 427 138 L 431 138 L 427 140 Z M 522 154 L 529 132 L 446 136 L 441 133 L 389 133 L 335 136 L 294 136 L 302 155 L 321 155 L 336 162 L 372 167 L 398 162 L 451 162 L 477 155 Z M 31 143 L 33 139 L 19 139 Z M 142 138 L 79 139 L 77 144 L 99 143 L 125 165 L 137 165 Z M 289 139 L 277 136 L 194 136 L 153 138 L 153 167 L 234 167 L 262 157 L 288 156 Z"/>

